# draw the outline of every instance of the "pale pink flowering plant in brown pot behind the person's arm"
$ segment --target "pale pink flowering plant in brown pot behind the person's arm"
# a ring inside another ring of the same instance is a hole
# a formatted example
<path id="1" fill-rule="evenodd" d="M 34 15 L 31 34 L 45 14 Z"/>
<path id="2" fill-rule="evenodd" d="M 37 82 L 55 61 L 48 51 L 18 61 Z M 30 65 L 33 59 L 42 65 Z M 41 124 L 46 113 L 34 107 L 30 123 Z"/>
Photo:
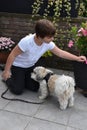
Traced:
<path id="1" fill-rule="evenodd" d="M 11 38 L 0 37 L 0 63 L 4 64 L 7 60 L 7 57 L 13 47 L 15 46 L 15 42 L 11 40 Z"/>

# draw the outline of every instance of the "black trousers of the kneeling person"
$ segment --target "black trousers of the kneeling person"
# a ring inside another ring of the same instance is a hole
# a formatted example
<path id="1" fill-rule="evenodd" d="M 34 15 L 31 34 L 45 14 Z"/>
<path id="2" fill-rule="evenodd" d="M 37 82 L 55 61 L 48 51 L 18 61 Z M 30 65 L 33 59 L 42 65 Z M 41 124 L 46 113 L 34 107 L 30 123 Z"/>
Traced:
<path id="1" fill-rule="evenodd" d="M 31 91 L 38 91 L 39 83 L 31 79 L 31 72 L 34 67 L 35 66 L 30 68 L 20 68 L 12 66 L 12 76 L 6 81 L 6 84 L 12 93 L 17 95 L 22 94 L 25 88 Z"/>

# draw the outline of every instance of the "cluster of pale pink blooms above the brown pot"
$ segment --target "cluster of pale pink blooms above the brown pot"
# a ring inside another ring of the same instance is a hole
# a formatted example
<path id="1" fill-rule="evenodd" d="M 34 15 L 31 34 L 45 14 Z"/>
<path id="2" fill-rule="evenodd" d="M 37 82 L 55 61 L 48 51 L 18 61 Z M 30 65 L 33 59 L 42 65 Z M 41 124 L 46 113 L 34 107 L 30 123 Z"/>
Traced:
<path id="1" fill-rule="evenodd" d="M 15 46 L 15 42 L 11 38 L 0 37 L 0 52 L 11 51 Z"/>

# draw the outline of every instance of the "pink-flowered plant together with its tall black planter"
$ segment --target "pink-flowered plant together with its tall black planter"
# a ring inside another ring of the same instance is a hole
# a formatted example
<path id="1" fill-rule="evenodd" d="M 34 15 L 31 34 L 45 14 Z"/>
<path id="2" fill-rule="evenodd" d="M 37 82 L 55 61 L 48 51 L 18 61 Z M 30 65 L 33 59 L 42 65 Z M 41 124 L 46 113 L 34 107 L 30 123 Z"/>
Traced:
<path id="1" fill-rule="evenodd" d="M 72 40 L 69 41 L 68 47 L 75 47 L 79 55 L 87 57 L 87 22 L 81 23 L 80 27 L 73 26 L 70 34 Z M 87 61 L 84 63 L 74 62 L 74 76 L 76 86 L 87 92 Z"/>

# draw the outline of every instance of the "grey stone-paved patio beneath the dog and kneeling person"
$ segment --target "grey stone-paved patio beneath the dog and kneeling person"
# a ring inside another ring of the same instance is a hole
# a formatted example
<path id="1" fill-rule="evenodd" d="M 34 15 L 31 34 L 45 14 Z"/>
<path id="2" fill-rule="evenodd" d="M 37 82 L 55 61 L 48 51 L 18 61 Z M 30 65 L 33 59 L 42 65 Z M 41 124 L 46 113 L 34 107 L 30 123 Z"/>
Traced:
<path id="1" fill-rule="evenodd" d="M 53 70 L 58 74 L 73 76 L 73 72 Z M 0 76 L 0 95 L 5 89 Z M 5 96 L 39 101 L 38 93 L 30 91 L 25 91 L 21 96 L 8 91 Z M 0 97 L 0 130 L 87 130 L 87 98 L 76 91 L 74 107 L 61 111 L 54 97 L 49 97 L 39 105 L 8 101 Z"/>

